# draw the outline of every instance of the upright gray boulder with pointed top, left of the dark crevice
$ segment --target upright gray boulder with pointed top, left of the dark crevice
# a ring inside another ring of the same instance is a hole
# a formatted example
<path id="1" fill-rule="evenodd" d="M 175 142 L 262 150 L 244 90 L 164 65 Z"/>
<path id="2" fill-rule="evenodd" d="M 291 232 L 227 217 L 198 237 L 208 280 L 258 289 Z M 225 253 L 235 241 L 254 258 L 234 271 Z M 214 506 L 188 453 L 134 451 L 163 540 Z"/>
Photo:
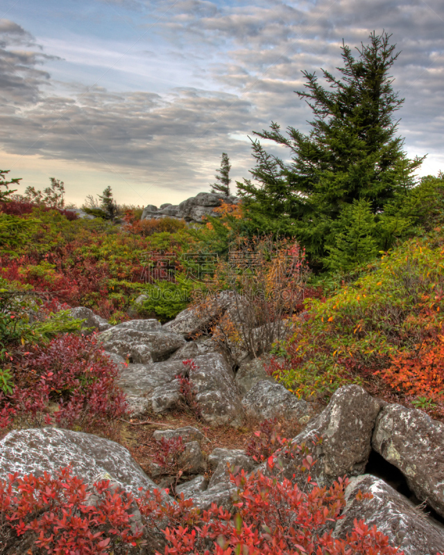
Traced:
<path id="1" fill-rule="evenodd" d="M 371 451 L 371 437 L 382 402 L 356 385 L 343 386 L 329 404 L 296 438 L 292 445 L 305 443 L 317 461 L 311 476 L 320 486 L 330 485 L 343 475 L 364 472 Z M 323 437 L 321 443 L 316 438 Z M 302 457 L 283 456 L 284 475 L 292 479 Z M 303 478 L 296 473 L 296 479 Z"/>

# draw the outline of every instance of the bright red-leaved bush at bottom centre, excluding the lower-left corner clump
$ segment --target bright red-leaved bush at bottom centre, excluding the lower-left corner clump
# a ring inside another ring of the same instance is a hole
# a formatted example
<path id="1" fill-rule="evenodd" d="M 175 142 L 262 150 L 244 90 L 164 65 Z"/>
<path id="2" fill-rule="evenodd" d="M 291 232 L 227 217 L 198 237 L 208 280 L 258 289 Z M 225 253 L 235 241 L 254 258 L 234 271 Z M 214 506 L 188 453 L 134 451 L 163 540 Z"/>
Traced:
<path id="1" fill-rule="evenodd" d="M 302 446 L 300 446 L 302 448 Z M 308 457 L 309 470 L 314 461 Z M 307 477 L 307 491 L 302 491 L 279 474 L 280 461 L 270 456 L 267 473 L 237 475 L 230 472 L 233 510 L 212 504 L 200 511 L 192 499 L 167 504 L 155 490 L 137 500 L 139 510 L 152 529 L 164 533 L 164 555 L 403 555 L 376 527 L 355 520 L 345 540 L 332 537 L 334 523 L 345 506 L 348 479 L 339 479 L 327 490 Z M 371 498 L 358 493 L 360 499 Z M 160 528 L 159 522 L 168 522 Z M 156 555 L 162 555 L 156 553 Z M 437 554 L 439 555 L 439 554 Z"/>

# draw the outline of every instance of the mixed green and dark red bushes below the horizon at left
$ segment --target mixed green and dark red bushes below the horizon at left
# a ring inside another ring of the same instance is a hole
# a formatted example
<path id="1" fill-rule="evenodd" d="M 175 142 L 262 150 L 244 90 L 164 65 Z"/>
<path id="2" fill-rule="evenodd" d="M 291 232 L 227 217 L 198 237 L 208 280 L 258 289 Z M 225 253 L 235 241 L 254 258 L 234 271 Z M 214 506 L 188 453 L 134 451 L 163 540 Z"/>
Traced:
<path id="1" fill-rule="evenodd" d="M 180 255 L 193 244 L 176 221 L 176 232 L 160 232 L 160 226 L 145 237 L 137 226 L 121 230 L 103 220 L 69 221 L 60 211 L 33 206 L 29 212 L 31 206 L 24 203 L 5 204 L 14 215 L 0 212 L 0 278 L 49 292 L 71 306 L 91 308 L 104 318 L 119 313 L 124 320 L 131 301 L 153 288 L 151 276 L 142 275 L 150 253 L 169 253 L 180 271 Z M 19 208 L 22 214 L 16 214 Z M 167 285 L 175 288 L 168 280 Z M 186 303 L 176 307 L 161 299 L 155 304 L 159 316 L 169 318 Z"/>

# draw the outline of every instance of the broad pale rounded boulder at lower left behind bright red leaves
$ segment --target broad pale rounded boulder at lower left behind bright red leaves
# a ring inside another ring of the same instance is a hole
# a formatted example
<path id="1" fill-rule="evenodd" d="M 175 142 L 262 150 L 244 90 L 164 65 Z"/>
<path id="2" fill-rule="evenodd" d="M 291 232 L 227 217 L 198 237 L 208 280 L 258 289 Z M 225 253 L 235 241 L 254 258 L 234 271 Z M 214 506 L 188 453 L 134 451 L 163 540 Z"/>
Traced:
<path id="1" fill-rule="evenodd" d="M 0 441 L 0 479 L 13 472 L 40 477 L 46 471 L 54 476 L 69 465 L 72 475 L 87 483 L 107 472 L 136 497 L 138 488 L 157 488 L 125 447 L 92 434 L 48 427 L 15 430 Z"/>

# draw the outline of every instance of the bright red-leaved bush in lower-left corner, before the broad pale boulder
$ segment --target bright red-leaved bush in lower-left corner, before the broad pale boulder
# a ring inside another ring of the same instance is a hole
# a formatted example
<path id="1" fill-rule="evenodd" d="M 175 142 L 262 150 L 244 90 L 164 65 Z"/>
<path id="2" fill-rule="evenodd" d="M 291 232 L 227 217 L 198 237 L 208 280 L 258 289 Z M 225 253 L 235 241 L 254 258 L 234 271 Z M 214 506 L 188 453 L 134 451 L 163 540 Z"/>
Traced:
<path id="1" fill-rule="evenodd" d="M 54 477 L 15 472 L 0 480 L 0 553 L 127 554 L 143 543 L 135 509 L 130 493 L 109 480 L 88 488 L 69 467 Z"/>

